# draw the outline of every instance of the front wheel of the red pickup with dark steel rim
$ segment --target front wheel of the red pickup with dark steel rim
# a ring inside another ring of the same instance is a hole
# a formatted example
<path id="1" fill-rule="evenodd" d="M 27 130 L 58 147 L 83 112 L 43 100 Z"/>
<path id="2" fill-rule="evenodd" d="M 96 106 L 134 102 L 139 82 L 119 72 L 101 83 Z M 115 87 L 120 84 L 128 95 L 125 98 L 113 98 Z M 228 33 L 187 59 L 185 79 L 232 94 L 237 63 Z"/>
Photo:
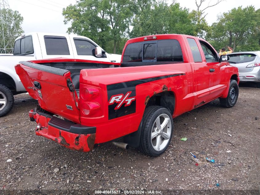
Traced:
<path id="1" fill-rule="evenodd" d="M 228 95 L 226 98 L 219 98 L 220 104 L 223 107 L 231 108 L 238 100 L 239 88 L 236 80 L 230 80 Z"/>

